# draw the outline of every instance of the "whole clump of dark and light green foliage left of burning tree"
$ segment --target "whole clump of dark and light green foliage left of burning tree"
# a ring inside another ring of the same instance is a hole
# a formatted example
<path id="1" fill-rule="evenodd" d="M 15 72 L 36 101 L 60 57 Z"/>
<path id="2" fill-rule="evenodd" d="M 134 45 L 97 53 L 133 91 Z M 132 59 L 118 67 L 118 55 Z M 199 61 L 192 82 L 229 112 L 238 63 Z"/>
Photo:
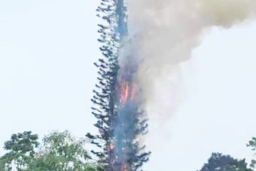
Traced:
<path id="1" fill-rule="evenodd" d="M 37 135 L 31 132 L 14 134 L 5 142 L 10 150 L 0 159 L 0 170 L 19 171 L 101 171 L 96 163 L 90 163 L 85 150 L 85 139 L 76 140 L 68 131 L 53 132 L 44 136 L 43 146 L 38 148 Z M 35 148 L 37 152 L 35 152 Z"/>

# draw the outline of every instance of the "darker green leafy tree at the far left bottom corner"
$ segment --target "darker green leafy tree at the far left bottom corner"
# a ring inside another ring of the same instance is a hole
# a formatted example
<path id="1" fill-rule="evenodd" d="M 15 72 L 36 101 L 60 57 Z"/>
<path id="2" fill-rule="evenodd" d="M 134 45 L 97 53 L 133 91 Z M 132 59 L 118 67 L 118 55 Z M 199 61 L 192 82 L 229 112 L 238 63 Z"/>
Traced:
<path id="1" fill-rule="evenodd" d="M 1 169 L 12 170 L 16 166 L 16 170 L 22 170 L 34 159 L 38 145 L 38 135 L 31 134 L 31 131 L 13 134 L 11 140 L 4 144 L 4 149 L 9 152 L 1 157 Z"/>

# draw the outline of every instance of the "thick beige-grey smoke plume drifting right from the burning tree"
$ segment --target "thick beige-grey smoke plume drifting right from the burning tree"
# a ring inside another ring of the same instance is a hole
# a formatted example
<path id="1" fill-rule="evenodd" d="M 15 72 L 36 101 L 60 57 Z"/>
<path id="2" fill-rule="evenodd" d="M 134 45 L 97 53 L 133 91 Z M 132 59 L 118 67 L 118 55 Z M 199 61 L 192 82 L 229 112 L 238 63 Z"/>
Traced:
<path id="1" fill-rule="evenodd" d="M 200 44 L 202 34 L 212 26 L 229 28 L 255 18 L 256 2 L 129 0 L 128 11 L 128 30 L 133 44 L 130 48 L 140 57 L 137 81 L 144 92 L 144 109 L 149 115 L 146 143 L 159 145 L 156 142 L 159 137 L 155 136 L 161 129 L 153 130 L 151 125 L 169 118 L 179 105 L 181 62 L 190 59 L 192 49 Z M 161 143 L 171 144 L 171 141 Z M 157 148 L 150 150 L 153 159 L 161 159 Z"/>

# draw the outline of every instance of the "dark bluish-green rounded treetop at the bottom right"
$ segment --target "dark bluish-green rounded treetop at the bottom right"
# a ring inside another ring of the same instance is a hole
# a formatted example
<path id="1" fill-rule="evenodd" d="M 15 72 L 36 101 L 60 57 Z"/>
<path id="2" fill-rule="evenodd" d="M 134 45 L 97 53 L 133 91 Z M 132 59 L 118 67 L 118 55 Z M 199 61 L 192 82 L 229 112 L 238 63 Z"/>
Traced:
<path id="1" fill-rule="evenodd" d="M 233 159 L 229 155 L 222 155 L 221 153 L 212 153 L 200 171 L 253 171 L 246 167 L 245 159 Z"/>

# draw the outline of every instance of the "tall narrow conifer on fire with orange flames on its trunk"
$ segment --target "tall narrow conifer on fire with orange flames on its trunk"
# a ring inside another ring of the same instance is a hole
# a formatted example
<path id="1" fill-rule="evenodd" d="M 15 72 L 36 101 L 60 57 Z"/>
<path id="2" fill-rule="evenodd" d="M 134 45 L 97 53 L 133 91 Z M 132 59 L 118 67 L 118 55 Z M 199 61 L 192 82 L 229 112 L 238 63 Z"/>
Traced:
<path id="1" fill-rule="evenodd" d="M 105 22 L 98 30 L 103 59 L 94 63 L 99 68 L 99 83 L 92 98 L 92 114 L 97 118 L 94 126 L 99 135 L 86 136 L 101 149 L 92 153 L 99 157 L 105 170 L 135 171 L 149 160 L 150 153 L 144 152 L 145 146 L 140 143 L 148 125 L 136 83 L 136 56 L 120 55 L 128 35 L 127 5 L 124 0 L 101 0 L 97 11 Z"/>

